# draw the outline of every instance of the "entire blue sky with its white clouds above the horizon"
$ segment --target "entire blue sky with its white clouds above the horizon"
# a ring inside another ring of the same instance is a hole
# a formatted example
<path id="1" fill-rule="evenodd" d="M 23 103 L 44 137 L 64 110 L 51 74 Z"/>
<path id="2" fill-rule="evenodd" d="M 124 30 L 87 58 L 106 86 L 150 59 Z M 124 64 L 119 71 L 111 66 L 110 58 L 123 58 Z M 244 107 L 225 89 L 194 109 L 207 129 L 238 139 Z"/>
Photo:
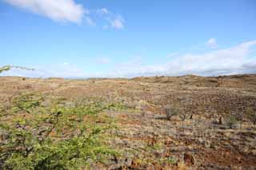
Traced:
<path id="1" fill-rule="evenodd" d="M 256 72 L 254 0 L 0 0 L 3 76 Z"/>

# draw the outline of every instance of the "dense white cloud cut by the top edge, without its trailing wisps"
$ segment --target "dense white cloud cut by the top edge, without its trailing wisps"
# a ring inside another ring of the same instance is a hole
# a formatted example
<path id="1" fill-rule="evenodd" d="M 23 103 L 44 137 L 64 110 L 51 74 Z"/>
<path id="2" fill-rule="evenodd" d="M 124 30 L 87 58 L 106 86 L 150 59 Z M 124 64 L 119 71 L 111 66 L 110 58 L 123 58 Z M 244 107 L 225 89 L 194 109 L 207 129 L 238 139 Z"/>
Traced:
<path id="1" fill-rule="evenodd" d="M 13 6 L 30 10 L 58 22 L 82 22 L 89 11 L 74 0 L 4 0 Z"/>

